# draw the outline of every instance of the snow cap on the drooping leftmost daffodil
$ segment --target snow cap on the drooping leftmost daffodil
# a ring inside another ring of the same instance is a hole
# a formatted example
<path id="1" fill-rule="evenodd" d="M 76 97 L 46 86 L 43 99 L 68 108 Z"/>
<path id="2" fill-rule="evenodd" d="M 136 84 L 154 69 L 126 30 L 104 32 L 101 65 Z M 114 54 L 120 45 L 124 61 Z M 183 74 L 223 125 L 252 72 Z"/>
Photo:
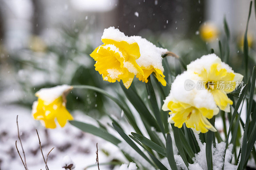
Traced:
<path id="1" fill-rule="evenodd" d="M 68 86 L 66 84 L 52 87 L 52 88 L 44 88 L 40 89 L 36 92 L 36 96 L 42 99 L 44 102 L 52 103 L 55 99 L 62 96 L 62 94 L 69 89 L 72 89 L 72 86 Z"/>

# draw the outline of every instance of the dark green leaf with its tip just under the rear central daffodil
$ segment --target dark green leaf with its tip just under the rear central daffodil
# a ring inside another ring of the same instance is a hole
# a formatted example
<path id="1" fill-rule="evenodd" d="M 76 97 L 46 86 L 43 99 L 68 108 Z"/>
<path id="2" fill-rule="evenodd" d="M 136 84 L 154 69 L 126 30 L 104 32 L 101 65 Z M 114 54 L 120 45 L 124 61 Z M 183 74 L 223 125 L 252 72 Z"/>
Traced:
<path id="1" fill-rule="evenodd" d="M 153 110 L 153 113 L 156 117 L 156 121 L 157 121 L 158 125 L 160 126 L 160 129 L 161 129 L 161 131 L 164 135 L 164 138 L 165 138 L 164 125 L 163 125 L 163 121 L 161 119 L 160 111 L 158 109 L 158 104 L 156 102 L 156 95 L 155 95 L 154 89 L 152 87 L 150 76 L 148 77 L 148 82 L 145 83 L 145 84 L 146 84 L 146 89 L 147 89 L 147 93 L 148 93 L 148 96 L 149 96 L 149 101 L 150 101 L 150 104 L 151 104 L 151 108 Z"/>

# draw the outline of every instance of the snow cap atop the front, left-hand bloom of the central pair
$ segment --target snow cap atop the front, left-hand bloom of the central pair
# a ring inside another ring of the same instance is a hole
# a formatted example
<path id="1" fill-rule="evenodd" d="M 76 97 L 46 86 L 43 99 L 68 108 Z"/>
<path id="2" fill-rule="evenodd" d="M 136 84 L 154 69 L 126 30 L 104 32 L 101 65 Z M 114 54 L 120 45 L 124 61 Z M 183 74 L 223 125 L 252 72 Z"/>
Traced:
<path id="1" fill-rule="evenodd" d="M 129 44 L 136 42 L 134 39 L 124 35 L 124 32 L 119 31 L 119 29 L 113 26 L 104 29 L 101 39 L 113 39 L 115 41 L 126 41 Z"/>

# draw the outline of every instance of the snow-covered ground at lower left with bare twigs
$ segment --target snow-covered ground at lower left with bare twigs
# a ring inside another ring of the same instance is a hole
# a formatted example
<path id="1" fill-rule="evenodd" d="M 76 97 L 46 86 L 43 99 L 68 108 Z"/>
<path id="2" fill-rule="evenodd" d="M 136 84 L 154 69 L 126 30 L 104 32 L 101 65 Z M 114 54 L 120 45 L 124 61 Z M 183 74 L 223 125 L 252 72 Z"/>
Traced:
<path id="1" fill-rule="evenodd" d="M 118 154 L 118 148 L 101 138 L 84 133 L 76 127 L 67 124 L 64 128 L 45 129 L 39 121 L 31 116 L 31 110 L 17 105 L 0 105 L 0 167 L 1 170 L 24 169 L 20 157 L 15 148 L 15 140 L 18 140 L 16 115 L 19 115 L 18 122 L 20 137 L 26 154 L 29 169 L 45 169 L 45 164 L 39 149 L 36 130 L 38 130 L 43 147 L 44 156 L 54 147 L 48 158 L 49 169 L 61 170 L 63 158 L 68 155 L 76 164 L 76 170 L 82 170 L 86 166 L 96 162 L 96 143 L 99 147 L 99 162 L 109 162 Z M 88 119 L 80 114 L 75 114 L 75 119 L 85 121 Z M 89 121 L 89 120 L 87 120 Z M 90 121 L 92 123 L 92 121 Z M 17 142 L 20 154 L 22 150 L 19 141 Z M 102 148 L 102 149 L 101 149 Z M 107 157 L 103 150 L 110 150 Z M 23 157 L 23 155 L 22 155 Z M 95 169 L 96 166 L 88 168 Z M 101 170 L 110 169 L 109 166 L 100 166 Z"/>

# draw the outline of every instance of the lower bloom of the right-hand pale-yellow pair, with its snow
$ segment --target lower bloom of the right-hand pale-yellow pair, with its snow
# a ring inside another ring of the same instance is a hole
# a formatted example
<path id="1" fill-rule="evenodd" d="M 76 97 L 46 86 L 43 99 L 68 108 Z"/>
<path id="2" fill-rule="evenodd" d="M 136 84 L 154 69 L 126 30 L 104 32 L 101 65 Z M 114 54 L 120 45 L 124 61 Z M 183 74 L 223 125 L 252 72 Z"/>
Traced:
<path id="1" fill-rule="evenodd" d="M 208 130 L 216 131 L 208 121 L 219 113 L 212 94 L 205 89 L 198 90 L 195 86 L 192 89 L 184 88 L 186 83 L 195 85 L 195 77 L 197 76 L 189 72 L 178 75 L 172 83 L 169 96 L 164 100 L 162 110 L 170 110 L 168 122 L 174 123 L 174 126 L 178 128 L 185 123 L 188 128 L 197 133 L 205 133 Z"/>

